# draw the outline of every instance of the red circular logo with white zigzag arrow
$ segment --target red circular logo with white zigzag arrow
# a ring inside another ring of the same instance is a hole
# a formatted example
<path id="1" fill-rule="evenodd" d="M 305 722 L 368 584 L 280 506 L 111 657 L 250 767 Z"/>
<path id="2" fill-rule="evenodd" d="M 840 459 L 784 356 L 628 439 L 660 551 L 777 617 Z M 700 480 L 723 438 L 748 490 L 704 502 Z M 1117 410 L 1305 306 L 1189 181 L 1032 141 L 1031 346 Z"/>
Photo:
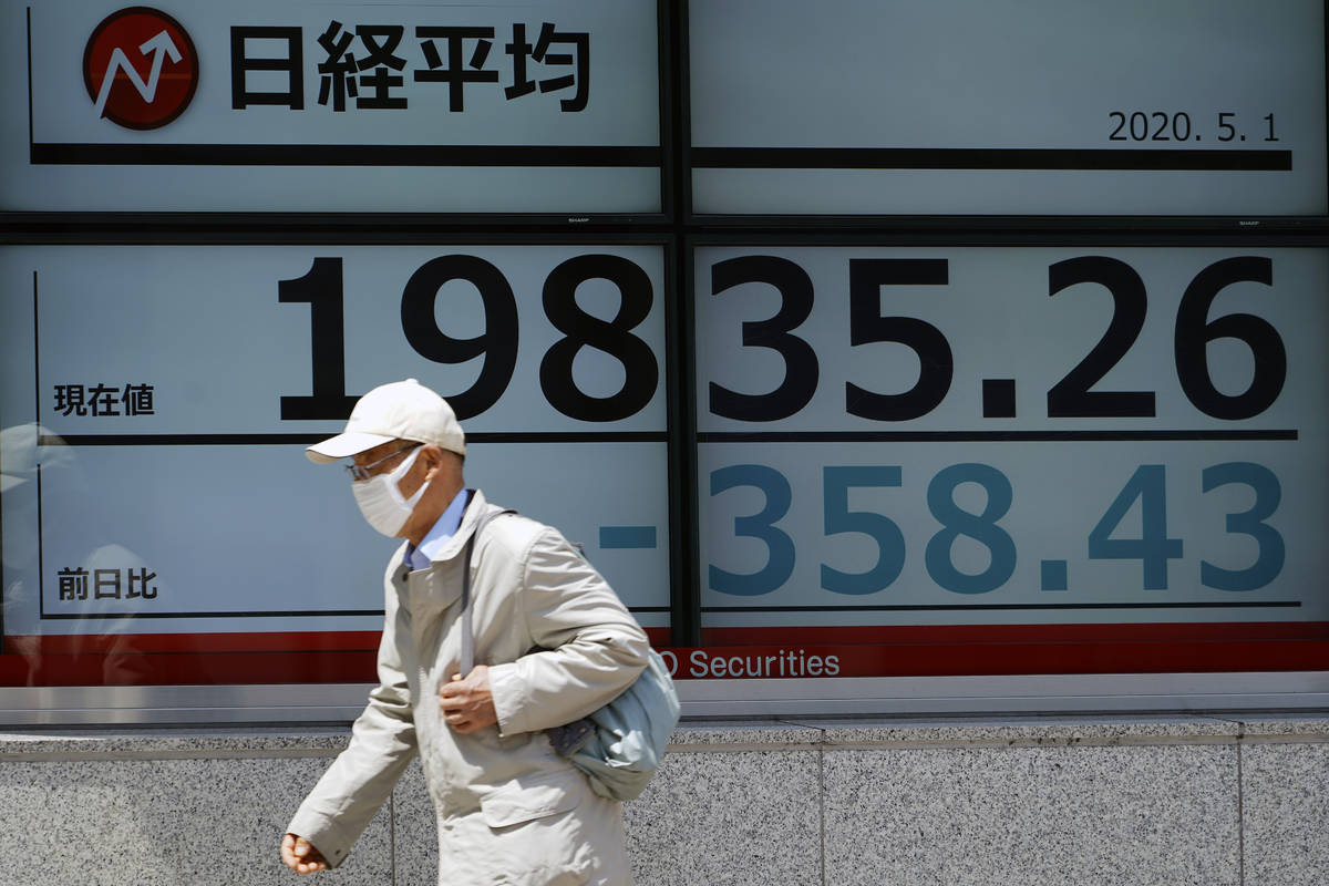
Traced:
<path id="1" fill-rule="evenodd" d="M 194 98 L 198 53 L 165 12 L 129 7 L 106 16 L 88 37 L 84 84 L 98 117 L 129 129 L 157 129 Z"/>

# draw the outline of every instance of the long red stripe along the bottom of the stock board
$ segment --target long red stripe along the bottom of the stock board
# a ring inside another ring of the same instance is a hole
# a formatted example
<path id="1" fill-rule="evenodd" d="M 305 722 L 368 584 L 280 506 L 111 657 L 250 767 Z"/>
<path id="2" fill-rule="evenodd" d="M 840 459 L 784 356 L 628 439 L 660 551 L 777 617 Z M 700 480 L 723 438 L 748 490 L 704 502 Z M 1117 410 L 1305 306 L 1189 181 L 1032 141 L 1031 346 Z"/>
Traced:
<path id="1" fill-rule="evenodd" d="M 708 628 L 696 650 L 666 647 L 668 628 L 647 634 L 682 679 L 1329 671 L 1326 622 Z M 377 640 L 376 631 L 7 636 L 0 685 L 372 683 Z M 820 667 L 795 664 L 812 656 Z"/>

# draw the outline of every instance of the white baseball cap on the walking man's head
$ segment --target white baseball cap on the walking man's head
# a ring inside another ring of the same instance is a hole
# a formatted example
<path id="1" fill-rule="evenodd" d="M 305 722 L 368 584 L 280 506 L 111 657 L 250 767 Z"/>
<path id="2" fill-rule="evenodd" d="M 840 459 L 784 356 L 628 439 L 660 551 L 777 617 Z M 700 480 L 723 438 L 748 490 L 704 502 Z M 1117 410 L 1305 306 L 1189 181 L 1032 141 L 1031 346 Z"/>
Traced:
<path id="1" fill-rule="evenodd" d="M 466 454 L 466 436 L 448 401 L 415 379 L 379 385 L 360 397 L 346 430 L 304 450 L 310 461 L 350 458 L 393 440 L 435 444 Z"/>

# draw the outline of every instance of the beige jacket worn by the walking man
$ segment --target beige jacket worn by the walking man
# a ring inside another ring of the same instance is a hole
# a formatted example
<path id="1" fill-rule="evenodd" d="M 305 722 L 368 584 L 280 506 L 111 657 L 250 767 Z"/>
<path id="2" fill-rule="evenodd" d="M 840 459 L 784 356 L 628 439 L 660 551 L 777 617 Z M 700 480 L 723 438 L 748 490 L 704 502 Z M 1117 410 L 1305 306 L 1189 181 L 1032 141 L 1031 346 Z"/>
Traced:
<path id="1" fill-rule="evenodd" d="M 622 692 L 649 644 L 557 530 L 517 514 L 484 527 L 472 561 L 474 656 L 489 665 L 498 725 L 460 735 L 439 715 L 439 685 L 460 669 L 465 543 L 482 513 L 500 510 L 476 491 L 431 569 L 408 574 L 405 545 L 388 562 L 380 684 L 287 830 L 340 865 L 419 752 L 440 883 L 627 883 L 622 806 L 593 793 L 542 731 Z M 528 655 L 537 647 L 548 651 Z"/>

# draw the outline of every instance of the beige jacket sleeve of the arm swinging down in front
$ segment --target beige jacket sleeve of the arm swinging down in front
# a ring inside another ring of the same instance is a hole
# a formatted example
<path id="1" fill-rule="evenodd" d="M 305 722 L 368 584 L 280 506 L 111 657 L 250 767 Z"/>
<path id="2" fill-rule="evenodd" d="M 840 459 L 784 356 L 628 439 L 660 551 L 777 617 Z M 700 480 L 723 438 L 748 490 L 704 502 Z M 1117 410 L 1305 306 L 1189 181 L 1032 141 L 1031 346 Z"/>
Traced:
<path id="1" fill-rule="evenodd" d="M 391 583 L 379 642 L 379 685 L 351 728 L 347 745 L 300 804 L 287 832 L 308 840 L 339 866 L 392 793 L 416 753 L 411 691 L 396 650 L 401 614 Z"/>

